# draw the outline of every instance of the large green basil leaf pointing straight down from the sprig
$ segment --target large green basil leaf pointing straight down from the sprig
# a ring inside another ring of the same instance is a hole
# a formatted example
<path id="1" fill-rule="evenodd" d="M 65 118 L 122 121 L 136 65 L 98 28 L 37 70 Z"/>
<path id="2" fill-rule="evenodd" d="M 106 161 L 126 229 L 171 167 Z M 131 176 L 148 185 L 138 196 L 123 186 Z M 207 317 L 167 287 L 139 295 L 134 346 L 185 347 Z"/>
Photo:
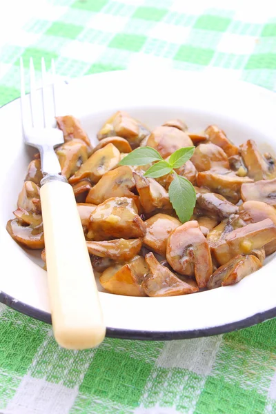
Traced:
<path id="1" fill-rule="evenodd" d="M 175 209 L 181 223 L 190 220 L 195 208 L 195 188 L 188 179 L 175 173 L 175 178 L 170 183 L 168 195 L 172 207 Z"/>

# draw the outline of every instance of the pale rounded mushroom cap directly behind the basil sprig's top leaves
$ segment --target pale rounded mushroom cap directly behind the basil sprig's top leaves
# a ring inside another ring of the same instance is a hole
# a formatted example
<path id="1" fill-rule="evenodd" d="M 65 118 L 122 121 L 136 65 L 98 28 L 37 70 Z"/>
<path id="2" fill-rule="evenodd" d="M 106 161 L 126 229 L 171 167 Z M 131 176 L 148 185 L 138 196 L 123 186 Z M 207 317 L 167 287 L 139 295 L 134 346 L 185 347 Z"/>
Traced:
<path id="1" fill-rule="evenodd" d="M 186 132 L 178 128 L 159 126 L 148 137 L 147 145 L 155 148 L 161 157 L 166 158 L 179 148 L 193 146 L 193 141 Z"/>

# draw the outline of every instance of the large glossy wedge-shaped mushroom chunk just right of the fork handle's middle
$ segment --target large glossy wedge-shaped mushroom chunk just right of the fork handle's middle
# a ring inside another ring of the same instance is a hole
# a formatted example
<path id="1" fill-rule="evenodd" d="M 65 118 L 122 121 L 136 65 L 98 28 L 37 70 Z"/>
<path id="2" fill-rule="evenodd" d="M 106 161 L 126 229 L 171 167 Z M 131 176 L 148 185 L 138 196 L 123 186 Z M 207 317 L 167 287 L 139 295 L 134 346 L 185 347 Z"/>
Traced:
<path id="1" fill-rule="evenodd" d="M 146 235 L 146 224 L 137 214 L 135 202 L 127 197 L 112 197 L 92 211 L 88 239 L 96 241 L 136 239 Z"/>

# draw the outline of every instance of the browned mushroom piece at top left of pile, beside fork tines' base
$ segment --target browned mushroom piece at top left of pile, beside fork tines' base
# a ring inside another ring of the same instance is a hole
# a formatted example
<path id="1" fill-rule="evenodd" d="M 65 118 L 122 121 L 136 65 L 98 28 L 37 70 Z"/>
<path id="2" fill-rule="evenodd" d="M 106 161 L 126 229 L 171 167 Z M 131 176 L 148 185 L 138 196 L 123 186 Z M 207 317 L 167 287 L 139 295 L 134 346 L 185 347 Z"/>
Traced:
<path id="1" fill-rule="evenodd" d="M 57 126 L 63 132 L 64 141 L 71 141 L 72 139 L 81 139 L 85 142 L 88 148 L 91 148 L 90 139 L 83 128 L 79 119 L 72 115 L 66 115 L 65 117 L 56 117 Z"/>

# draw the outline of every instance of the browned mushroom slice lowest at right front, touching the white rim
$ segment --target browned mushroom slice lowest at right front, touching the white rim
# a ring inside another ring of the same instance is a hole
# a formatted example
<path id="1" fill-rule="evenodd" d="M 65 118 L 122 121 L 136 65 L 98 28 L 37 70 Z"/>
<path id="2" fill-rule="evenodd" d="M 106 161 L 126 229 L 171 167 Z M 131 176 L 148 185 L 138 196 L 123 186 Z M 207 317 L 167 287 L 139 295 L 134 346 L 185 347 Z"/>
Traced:
<path id="1" fill-rule="evenodd" d="M 208 289 L 235 284 L 261 267 L 262 263 L 257 257 L 237 255 L 213 273 L 208 282 Z"/>

